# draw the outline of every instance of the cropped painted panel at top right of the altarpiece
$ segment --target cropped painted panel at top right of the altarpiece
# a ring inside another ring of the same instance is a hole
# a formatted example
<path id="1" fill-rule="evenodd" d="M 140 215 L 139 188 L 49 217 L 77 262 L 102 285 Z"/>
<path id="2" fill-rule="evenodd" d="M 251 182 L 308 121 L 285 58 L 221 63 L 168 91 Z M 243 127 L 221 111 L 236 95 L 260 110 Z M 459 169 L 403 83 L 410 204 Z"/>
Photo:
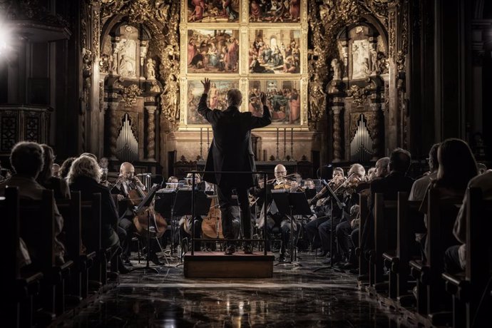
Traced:
<path id="1" fill-rule="evenodd" d="M 251 0 L 250 23 L 297 23 L 300 20 L 301 0 Z"/>

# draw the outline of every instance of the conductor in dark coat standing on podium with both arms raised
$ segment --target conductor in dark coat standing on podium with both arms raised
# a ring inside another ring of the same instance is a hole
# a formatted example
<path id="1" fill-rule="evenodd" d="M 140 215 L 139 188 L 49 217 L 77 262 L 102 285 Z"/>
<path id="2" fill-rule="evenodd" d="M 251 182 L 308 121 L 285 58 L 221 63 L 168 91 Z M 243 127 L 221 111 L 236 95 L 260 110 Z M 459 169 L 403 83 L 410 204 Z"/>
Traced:
<path id="1" fill-rule="evenodd" d="M 272 123 L 270 110 L 266 106 L 267 96 L 260 93 L 263 104 L 263 116 L 252 116 L 252 113 L 241 113 L 241 91 L 232 88 L 227 91 L 227 108 L 224 111 L 211 110 L 207 107 L 207 96 L 210 91 L 210 80 L 202 81 L 203 95 L 198 103 L 198 113 L 212 125 L 213 139 L 208 150 L 205 171 L 255 171 L 255 155 L 251 145 L 251 130 L 263 128 Z M 226 240 L 236 239 L 232 227 L 232 190 L 236 190 L 237 200 L 242 211 L 242 227 L 245 239 L 251 238 L 251 213 L 247 190 L 255 185 L 255 176 L 248 174 L 205 173 L 203 180 L 217 185 L 217 198 L 222 214 L 222 232 Z M 245 254 L 252 254 L 250 242 L 244 245 Z M 226 242 L 225 255 L 236 251 L 235 242 Z"/>

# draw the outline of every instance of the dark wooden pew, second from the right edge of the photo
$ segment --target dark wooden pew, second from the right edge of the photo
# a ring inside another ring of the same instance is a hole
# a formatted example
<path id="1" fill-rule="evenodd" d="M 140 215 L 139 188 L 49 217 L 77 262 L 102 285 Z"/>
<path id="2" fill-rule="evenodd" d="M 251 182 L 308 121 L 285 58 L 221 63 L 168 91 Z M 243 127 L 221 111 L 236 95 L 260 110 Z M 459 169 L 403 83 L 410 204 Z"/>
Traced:
<path id="1" fill-rule="evenodd" d="M 453 223 L 461 205 L 461 198 L 441 199 L 439 190 L 429 190 L 427 215 L 427 262 L 410 261 L 411 274 L 417 280 L 417 312 L 431 324 L 444 325 L 451 320 L 451 312 L 441 312 L 446 299 L 444 282 L 444 252 L 454 239 Z"/>

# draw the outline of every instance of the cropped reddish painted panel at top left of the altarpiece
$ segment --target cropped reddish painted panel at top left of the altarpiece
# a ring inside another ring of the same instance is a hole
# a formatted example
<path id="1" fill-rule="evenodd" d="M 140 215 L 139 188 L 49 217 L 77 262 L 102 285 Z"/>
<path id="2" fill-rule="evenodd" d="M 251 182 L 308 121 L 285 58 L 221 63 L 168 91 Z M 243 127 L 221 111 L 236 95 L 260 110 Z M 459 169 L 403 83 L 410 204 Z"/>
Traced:
<path id="1" fill-rule="evenodd" d="M 235 23 L 240 0 L 188 0 L 189 23 Z"/>

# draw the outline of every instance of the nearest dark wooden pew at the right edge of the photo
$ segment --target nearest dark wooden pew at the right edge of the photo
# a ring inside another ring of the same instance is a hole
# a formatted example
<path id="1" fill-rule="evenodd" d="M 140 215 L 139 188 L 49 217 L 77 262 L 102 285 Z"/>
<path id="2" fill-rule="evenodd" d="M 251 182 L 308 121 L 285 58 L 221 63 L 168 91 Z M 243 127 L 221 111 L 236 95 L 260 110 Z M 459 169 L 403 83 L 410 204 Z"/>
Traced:
<path id="1" fill-rule="evenodd" d="M 453 327 L 486 327 L 490 324 L 490 291 L 486 291 L 492 279 L 492 250 L 490 232 L 492 229 L 492 200 L 484 200 L 480 188 L 467 190 L 466 208 L 466 271 L 452 275 L 444 272 L 446 290 L 453 295 Z M 490 288 L 490 286 L 489 286 Z M 485 296 L 483 300 L 481 297 Z M 482 304 L 480 304 L 482 302 Z M 481 305 L 477 315 L 477 310 Z"/>

